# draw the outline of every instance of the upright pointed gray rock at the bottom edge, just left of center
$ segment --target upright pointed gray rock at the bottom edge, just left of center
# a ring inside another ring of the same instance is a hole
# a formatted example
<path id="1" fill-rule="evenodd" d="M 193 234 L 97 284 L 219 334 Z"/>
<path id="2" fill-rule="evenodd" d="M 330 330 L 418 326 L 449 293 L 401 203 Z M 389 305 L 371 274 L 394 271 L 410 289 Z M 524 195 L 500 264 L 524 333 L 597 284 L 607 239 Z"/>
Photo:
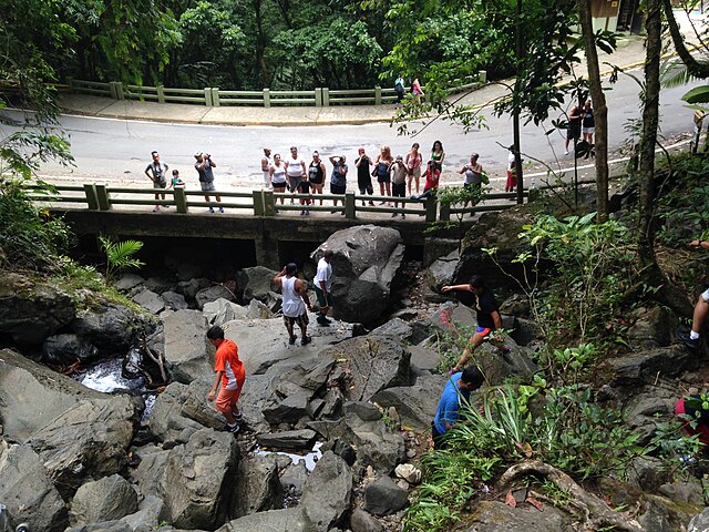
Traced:
<path id="1" fill-rule="evenodd" d="M 351 499 L 352 473 L 341 458 L 326 452 L 302 488 L 300 508 L 308 529 L 327 532 L 339 526 Z"/>

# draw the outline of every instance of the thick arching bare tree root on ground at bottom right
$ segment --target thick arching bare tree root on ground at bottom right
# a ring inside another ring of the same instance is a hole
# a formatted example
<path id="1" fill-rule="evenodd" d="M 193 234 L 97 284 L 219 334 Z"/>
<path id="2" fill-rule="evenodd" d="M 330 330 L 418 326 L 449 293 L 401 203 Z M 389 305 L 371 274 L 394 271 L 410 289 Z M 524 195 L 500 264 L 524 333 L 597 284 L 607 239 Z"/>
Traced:
<path id="1" fill-rule="evenodd" d="M 572 498 L 569 509 L 579 519 L 579 531 L 597 531 L 603 528 L 614 526 L 615 530 L 626 532 L 643 532 L 643 528 L 629 515 L 616 512 L 598 499 L 578 485 L 568 474 L 538 460 L 521 462 L 512 466 L 500 479 L 500 491 L 505 491 L 513 481 L 527 474 L 544 477 L 554 482 L 561 490 Z"/>

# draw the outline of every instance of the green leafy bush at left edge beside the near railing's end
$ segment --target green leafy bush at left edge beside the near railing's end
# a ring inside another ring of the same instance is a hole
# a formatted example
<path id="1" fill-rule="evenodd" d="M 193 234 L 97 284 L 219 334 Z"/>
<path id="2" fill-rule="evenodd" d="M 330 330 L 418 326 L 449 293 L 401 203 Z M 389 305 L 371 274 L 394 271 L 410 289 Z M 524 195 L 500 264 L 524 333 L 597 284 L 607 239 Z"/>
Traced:
<path id="1" fill-rule="evenodd" d="M 30 201 L 22 183 L 0 176 L 0 267 L 51 269 L 73 235 L 61 218 Z"/>

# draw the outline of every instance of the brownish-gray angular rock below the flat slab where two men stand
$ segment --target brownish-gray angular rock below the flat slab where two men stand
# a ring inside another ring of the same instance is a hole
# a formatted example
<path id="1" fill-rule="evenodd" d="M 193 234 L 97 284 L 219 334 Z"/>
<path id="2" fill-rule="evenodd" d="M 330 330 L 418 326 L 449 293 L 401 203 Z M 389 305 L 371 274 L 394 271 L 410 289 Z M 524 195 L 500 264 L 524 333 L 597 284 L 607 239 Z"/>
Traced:
<path id="1" fill-rule="evenodd" d="M 351 371 L 350 400 L 368 401 L 377 392 L 410 383 L 411 355 L 388 336 L 366 336 L 345 340 L 326 351 L 335 360 L 347 360 Z"/>

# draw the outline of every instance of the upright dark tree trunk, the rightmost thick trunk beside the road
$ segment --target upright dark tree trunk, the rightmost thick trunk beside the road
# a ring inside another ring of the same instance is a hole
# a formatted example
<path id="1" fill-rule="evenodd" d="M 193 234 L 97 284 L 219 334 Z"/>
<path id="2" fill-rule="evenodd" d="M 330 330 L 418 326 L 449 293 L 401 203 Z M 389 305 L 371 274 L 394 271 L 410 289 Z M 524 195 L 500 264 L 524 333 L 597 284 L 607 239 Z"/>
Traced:
<path id="1" fill-rule="evenodd" d="M 660 0 L 647 0 L 645 29 L 647 57 L 645 61 L 645 99 L 643 109 L 643 136 L 640 139 L 640 168 L 638 178 L 638 255 L 644 268 L 655 270 L 655 144 L 657 143 L 658 110 L 660 98 Z"/>

